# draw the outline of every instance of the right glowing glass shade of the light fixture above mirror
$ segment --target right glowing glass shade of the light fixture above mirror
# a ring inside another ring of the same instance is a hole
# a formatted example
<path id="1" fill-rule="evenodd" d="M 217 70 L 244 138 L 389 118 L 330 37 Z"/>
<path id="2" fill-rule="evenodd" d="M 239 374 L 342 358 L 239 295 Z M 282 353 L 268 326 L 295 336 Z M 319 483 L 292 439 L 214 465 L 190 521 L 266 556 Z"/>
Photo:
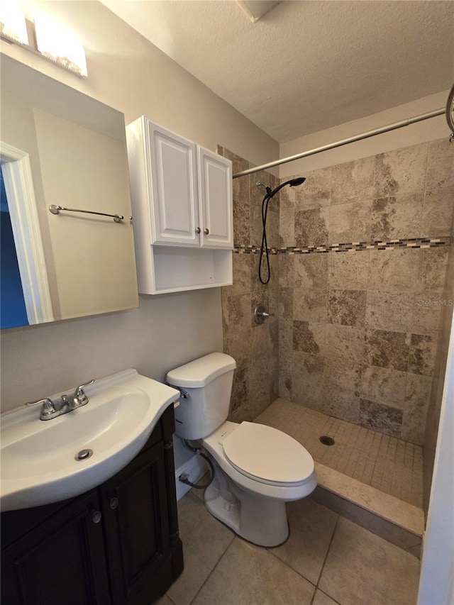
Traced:
<path id="1" fill-rule="evenodd" d="M 35 17 L 36 48 L 43 57 L 79 76 L 87 76 L 87 60 L 80 40 L 45 15 Z"/>

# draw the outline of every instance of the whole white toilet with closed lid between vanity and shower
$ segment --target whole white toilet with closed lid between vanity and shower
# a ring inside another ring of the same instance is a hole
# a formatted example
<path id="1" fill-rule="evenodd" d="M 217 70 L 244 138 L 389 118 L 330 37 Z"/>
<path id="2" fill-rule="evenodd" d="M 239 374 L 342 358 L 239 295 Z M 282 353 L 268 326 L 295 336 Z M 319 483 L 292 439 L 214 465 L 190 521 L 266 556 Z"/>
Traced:
<path id="1" fill-rule="evenodd" d="M 199 441 L 214 464 L 204 495 L 209 512 L 245 540 L 277 546 L 289 535 L 285 503 L 316 487 L 314 460 L 276 428 L 226 420 L 235 368 L 230 355 L 210 353 L 167 374 L 182 392 L 175 432 Z"/>

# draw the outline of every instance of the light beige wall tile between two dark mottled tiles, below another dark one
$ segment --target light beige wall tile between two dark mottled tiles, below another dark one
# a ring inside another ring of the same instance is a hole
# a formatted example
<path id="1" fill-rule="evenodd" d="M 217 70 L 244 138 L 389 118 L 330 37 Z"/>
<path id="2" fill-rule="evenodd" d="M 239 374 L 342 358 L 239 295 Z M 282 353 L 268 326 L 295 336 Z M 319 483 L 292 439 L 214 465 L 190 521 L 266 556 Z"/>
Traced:
<path id="1" fill-rule="evenodd" d="M 326 326 L 326 360 L 341 362 L 345 367 L 355 367 L 364 362 L 365 329 L 341 326 L 337 323 Z"/>

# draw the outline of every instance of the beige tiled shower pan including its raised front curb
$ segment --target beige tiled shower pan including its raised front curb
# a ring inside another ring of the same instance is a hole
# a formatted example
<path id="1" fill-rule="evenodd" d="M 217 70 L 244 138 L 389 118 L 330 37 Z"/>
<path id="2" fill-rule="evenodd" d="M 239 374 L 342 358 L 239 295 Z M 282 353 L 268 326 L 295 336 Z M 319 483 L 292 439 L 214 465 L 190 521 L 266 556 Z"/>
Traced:
<path id="1" fill-rule="evenodd" d="M 421 447 L 285 399 L 274 401 L 255 421 L 279 428 L 311 453 L 319 478 L 312 498 L 420 555 Z M 321 443 L 321 436 L 333 445 Z"/>

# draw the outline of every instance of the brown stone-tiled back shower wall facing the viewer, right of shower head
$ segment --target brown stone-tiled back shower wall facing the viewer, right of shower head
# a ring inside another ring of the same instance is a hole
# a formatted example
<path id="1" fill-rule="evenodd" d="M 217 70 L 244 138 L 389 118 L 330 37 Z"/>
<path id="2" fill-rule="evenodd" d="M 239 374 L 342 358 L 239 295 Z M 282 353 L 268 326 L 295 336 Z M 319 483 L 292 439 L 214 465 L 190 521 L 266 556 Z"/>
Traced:
<path id="1" fill-rule="evenodd" d="M 303 176 L 280 194 L 279 396 L 422 445 L 454 144 L 436 140 Z"/>

